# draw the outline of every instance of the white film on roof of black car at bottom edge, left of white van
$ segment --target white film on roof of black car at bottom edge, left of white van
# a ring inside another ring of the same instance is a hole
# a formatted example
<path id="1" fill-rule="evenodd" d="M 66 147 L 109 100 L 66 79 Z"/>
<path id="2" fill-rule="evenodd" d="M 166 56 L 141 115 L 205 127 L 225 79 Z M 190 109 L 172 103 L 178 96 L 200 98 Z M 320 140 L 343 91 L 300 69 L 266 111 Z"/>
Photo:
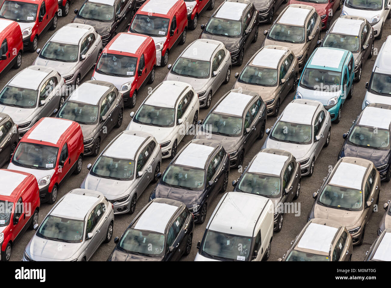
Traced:
<path id="1" fill-rule="evenodd" d="M 153 202 L 137 220 L 135 229 L 164 233 L 167 223 L 177 210 L 176 206 Z"/>

